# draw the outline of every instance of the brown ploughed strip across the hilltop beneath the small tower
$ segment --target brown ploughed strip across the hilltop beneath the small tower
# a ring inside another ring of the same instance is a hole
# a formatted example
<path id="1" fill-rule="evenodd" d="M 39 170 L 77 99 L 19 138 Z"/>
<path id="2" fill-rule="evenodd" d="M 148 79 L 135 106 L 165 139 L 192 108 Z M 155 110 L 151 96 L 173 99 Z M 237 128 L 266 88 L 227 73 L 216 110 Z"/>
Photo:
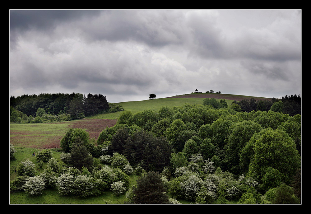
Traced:
<path id="1" fill-rule="evenodd" d="M 187 95 L 179 95 L 179 96 L 172 96 L 168 98 L 215 98 L 215 99 L 225 99 L 225 100 L 237 100 L 241 101 L 243 99 L 250 99 L 252 97 L 243 97 L 243 96 L 230 96 L 230 95 L 217 95 L 217 94 L 206 94 L 206 93 L 193 93 Z M 255 98 L 255 97 L 254 97 Z M 255 98 L 255 100 L 270 100 L 271 98 Z"/>

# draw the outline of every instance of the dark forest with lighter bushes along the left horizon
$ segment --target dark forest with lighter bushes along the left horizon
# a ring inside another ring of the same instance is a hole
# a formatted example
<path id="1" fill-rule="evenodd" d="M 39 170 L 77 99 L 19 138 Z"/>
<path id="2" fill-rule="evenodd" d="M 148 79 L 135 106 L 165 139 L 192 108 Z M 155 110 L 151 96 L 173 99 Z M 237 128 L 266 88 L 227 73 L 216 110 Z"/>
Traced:
<path id="1" fill-rule="evenodd" d="M 13 123 L 75 120 L 123 110 L 122 106 L 108 103 L 106 96 L 91 93 L 87 97 L 79 93 L 11 96 L 10 105 Z"/>

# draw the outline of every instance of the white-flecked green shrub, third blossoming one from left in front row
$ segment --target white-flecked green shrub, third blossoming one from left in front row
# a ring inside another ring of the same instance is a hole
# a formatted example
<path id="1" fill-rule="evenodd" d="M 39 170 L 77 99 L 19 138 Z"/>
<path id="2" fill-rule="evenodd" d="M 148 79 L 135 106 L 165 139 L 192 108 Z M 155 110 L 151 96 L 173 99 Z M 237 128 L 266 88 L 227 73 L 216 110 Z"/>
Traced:
<path id="1" fill-rule="evenodd" d="M 73 182 L 72 193 L 78 197 L 85 198 L 86 196 L 93 194 L 93 188 L 94 184 L 91 177 L 87 177 L 86 175 L 78 175 Z"/>

